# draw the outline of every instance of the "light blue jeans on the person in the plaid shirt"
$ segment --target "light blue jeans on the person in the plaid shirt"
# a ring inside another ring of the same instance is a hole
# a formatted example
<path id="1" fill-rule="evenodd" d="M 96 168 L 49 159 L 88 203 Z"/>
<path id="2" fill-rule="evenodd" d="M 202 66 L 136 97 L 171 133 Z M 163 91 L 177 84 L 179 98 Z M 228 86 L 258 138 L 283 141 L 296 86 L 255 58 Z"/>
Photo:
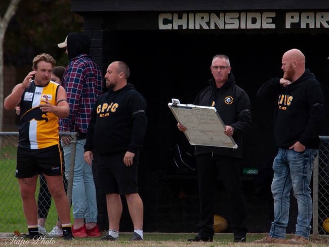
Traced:
<path id="1" fill-rule="evenodd" d="M 74 162 L 72 205 L 73 218 L 85 219 L 86 223 L 97 222 L 96 187 L 93 168 L 84 160 L 86 139 L 77 140 Z M 70 170 L 72 145 L 63 146 L 65 159 L 65 176 Z"/>

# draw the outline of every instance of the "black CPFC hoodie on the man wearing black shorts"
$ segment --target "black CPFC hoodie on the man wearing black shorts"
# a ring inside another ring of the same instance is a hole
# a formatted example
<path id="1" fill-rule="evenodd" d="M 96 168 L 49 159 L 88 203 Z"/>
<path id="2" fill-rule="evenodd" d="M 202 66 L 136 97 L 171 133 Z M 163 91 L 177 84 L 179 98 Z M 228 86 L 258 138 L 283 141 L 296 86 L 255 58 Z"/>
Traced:
<path id="1" fill-rule="evenodd" d="M 128 83 L 117 91 L 109 90 L 96 102 L 88 127 L 85 151 L 109 155 L 130 151 L 143 145 L 147 129 L 146 100 Z"/>

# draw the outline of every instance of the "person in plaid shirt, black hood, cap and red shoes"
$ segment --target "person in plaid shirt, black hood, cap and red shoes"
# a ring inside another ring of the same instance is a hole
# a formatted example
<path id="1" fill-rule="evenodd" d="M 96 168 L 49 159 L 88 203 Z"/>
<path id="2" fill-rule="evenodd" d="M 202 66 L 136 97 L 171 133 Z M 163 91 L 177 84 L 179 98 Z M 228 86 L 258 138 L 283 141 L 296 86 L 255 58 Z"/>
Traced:
<path id="1" fill-rule="evenodd" d="M 99 237 L 97 226 L 96 187 L 91 164 L 84 161 L 84 145 L 87 129 L 95 102 L 103 92 L 103 78 L 99 66 L 92 61 L 90 37 L 83 33 L 69 33 L 65 42 L 69 63 L 64 72 L 62 85 L 67 93 L 70 113 L 60 119 L 61 132 L 77 132 L 72 186 L 74 237 Z M 62 137 L 65 159 L 65 175 L 68 178 L 71 156 L 71 137 Z"/>

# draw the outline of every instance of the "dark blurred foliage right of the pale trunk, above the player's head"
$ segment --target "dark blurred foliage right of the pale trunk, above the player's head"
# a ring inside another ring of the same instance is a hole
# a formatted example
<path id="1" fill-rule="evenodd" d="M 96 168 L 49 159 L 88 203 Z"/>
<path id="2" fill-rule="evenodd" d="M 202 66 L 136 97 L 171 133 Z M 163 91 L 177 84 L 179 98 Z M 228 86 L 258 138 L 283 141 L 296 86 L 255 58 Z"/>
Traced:
<path id="1" fill-rule="evenodd" d="M 21 1 L 5 35 L 5 65 L 30 65 L 35 55 L 46 52 L 66 66 L 67 55 L 57 44 L 68 32 L 81 31 L 83 17 L 70 11 L 70 0 Z"/>

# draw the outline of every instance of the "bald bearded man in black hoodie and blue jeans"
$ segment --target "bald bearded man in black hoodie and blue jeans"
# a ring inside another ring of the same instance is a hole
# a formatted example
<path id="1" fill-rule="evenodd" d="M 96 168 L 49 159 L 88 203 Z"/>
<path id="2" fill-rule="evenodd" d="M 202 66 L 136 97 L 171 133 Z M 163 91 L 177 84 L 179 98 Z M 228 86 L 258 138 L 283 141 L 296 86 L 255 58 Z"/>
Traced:
<path id="1" fill-rule="evenodd" d="M 257 241 L 307 244 L 313 212 L 310 183 L 324 123 L 324 96 L 315 75 L 305 68 L 300 50 L 285 52 L 281 69 L 283 76 L 269 79 L 257 93 L 260 98 L 277 102 L 274 139 L 278 147 L 272 166 L 274 220 L 269 235 Z M 297 199 L 298 216 L 295 235 L 286 240 L 291 189 Z"/>

